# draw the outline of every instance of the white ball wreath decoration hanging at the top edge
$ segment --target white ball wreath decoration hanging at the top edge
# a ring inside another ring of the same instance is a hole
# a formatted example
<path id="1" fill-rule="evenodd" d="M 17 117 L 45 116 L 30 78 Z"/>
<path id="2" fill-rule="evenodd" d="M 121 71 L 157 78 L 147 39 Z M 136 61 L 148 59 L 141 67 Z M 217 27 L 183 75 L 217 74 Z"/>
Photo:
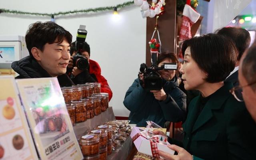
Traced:
<path id="1" fill-rule="evenodd" d="M 164 13 L 165 0 L 152 0 L 151 5 L 146 0 L 134 0 L 134 4 L 140 6 L 145 17 L 154 18 Z"/>

